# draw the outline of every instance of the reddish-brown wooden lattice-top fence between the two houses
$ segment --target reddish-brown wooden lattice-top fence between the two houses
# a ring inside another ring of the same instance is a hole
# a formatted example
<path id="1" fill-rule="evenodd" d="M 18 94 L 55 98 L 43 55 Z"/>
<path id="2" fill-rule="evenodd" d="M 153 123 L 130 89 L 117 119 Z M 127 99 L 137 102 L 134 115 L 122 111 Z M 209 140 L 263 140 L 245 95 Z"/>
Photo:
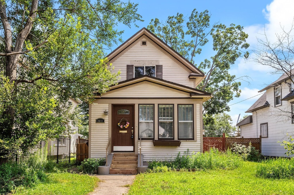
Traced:
<path id="1" fill-rule="evenodd" d="M 203 137 L 203 152 L 209 151 L 211 147 L 218 148 L 220 151 L 225 151 L 232 147 L 234 143 L 245 146 L 249 146 L 249 143 L 251 143 L 251 145 L 261 153 L 261 136 L 259 138 L 226 138 L 225 134 L 223 134 L 223 137 L 219 138 Z"/>

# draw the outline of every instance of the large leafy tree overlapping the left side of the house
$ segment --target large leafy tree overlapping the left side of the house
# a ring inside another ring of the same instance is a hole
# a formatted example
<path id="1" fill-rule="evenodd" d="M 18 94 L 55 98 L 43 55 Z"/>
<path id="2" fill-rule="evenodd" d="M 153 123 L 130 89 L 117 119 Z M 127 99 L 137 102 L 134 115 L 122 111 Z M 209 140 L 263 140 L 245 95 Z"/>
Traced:
<path id="1" fill-rule="evenodd" d="M 122 41 L 116 26 L 142 21 L 136 12 L 120 0 L 0 0 L 0 158 L 64 132 L 69 97 L 116 83 L 102 46 Z"/>

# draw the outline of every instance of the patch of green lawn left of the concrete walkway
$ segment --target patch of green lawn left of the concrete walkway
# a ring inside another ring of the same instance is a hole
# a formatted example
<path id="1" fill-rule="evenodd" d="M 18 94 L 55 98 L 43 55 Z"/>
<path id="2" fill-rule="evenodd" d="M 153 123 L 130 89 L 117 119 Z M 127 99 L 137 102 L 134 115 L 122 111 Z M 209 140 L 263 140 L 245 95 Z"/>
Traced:
<path id="1" fill-rule="evenodd" d="M 13 194 L 88 194 L 97 186 L 99 179 L 88 175 L 71 174 L 71 173 L 50 173 L 46 182 L 36 184 L 32 187 L 20 186 L 16 188 Z"/>

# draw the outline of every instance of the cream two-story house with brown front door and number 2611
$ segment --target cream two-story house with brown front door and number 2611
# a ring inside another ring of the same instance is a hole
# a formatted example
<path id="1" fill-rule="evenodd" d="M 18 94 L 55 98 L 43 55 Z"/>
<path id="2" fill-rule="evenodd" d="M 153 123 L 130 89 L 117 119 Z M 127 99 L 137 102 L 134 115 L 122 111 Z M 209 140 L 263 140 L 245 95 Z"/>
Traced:
<path id="1" fill-rule="evenodd" d="M 144 161 L 203 151 L 203 72 L 146 28 L 107 57 L 121 78 L 89 104 L 89 157 L 105 158 L 109 139 L 111 153 L 138 154 L 141 138 Z"/>

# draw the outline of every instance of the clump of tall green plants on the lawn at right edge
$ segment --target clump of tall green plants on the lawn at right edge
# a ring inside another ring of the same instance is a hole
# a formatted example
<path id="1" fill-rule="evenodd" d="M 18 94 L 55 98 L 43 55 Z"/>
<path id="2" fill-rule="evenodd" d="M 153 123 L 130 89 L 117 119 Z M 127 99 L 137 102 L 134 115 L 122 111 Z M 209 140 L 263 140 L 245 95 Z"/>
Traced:
<path id="1" fill-rule="evenodd" d="M 257 177 L 271 179 L 293 179 L 294 158 L 276 158 L 264 160 L 256 167 Z"/>

